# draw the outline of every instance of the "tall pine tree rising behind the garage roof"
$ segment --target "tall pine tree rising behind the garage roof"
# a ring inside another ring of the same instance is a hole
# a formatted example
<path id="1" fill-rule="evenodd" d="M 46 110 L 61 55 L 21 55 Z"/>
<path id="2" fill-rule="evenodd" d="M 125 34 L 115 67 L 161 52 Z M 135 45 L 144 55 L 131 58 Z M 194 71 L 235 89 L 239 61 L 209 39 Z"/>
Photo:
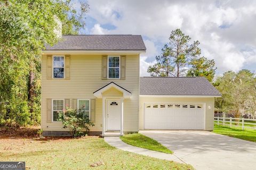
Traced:
<path id="1" fill-rule="evenodd" d="M 214 61 L 200 57 L 199 41 L 190 44 L 191 38 L 180 29 L 171 32 L 169 44 L 165 44 L 162 53 L 156 56 L 157 63 L 148 67 L 151 76 L 180 77 L 195 75 L 212 77 L 215 73 Z M 187 72 L 190 71 L 189 74 Z M 193 70 L 193 71 L 192 71 Z"/>

